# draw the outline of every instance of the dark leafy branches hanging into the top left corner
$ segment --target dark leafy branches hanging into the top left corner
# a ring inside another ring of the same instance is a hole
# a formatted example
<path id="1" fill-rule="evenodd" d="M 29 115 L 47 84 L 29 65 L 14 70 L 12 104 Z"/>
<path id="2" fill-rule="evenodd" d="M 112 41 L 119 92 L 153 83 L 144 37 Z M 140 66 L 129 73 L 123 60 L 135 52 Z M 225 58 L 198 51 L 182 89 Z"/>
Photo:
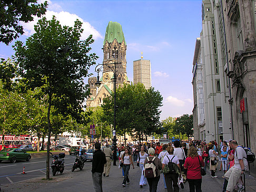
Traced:
<path id="1" fill-rule="evenodd" d="M 33 21 L 33 16 L 41 17 L 46 12 L 47 2 L 37 4 L 36 0 L 2 0 L 0 4 L 0 42 L 8 45 L 24 34 L 19 22 Z"/>

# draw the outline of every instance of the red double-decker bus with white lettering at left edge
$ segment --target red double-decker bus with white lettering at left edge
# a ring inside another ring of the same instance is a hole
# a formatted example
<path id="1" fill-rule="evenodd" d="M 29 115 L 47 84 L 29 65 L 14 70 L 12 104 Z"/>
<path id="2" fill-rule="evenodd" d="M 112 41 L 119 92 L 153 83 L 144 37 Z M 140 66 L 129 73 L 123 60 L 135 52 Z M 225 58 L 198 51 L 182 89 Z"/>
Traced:
<path id="1" fill-rule="evenodd" d="M 31 136 L 29 135 L 19 135 L 19 136 L 13 136 L 13 135 L 5 135 L 3 139 L 3 135 L 0 135 L 0 150 L 2 150 L 2 142 L 4 140 L 4 147 L 14 147 L 18 148 L 21 145 L 30 144 L 31 143 Z"/>

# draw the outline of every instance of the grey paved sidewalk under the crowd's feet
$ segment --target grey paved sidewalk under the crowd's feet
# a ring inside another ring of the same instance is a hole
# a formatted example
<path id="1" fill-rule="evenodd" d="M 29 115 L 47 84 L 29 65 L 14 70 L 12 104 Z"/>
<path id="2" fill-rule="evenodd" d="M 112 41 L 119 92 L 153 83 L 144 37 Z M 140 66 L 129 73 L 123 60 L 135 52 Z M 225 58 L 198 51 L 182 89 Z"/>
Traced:
<path id="1" fill-rule="evenodd" d="M 80 171 L 76 169 L 73 173 L 71 172 L 71 165 L 66 166 L 64 174 L 51 176 L 53 180 L 44 181 L 42 178 L 29 179 L 22 183 L 10 184 L 2 186 L 2 191 L 94 191 L 91 176 L 91 162 L 87 162 L 84 169 Z M 131 166 L 132 167 L 132 166 Z M 149 186 L 143 186 L 140 188 L 139 181 L 141 176 L 140 168 L 135 165 L 135 169 L 130 169 L 130 185 L 122 187 L 122 169 L 118 166 L 111 165 L 110 177 L 103 177 L 103 191 L 104 192 L 122 192 L 122 191 L 149 191 Z M 217 171 L 216 175 L 218 178 L 211 178 L 210 171 L 208 169 L 207 174 L 203 176 L 202 180 L 202 191 L 222 191 L 223 186 L 223 171 Z M 256 191 L 256 179 L 246 175 L 246 191 Z M 188 183 L 185 184 L 184 189 L 180 191 L 189 191 Z M 164 189 L 163 178 L 161 175 L 157 192 L 167 192 Z"/>

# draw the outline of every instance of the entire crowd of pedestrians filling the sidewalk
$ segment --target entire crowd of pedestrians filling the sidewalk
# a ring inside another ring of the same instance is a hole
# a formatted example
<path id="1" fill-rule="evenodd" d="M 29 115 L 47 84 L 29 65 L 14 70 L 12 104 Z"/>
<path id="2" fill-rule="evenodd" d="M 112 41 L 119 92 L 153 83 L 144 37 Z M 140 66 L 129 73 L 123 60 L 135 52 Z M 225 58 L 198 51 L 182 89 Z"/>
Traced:
<path id="1" fill-rule="evenodd" d="M 109 159 L 113 151 L 108 145 L 101 151 L 98 145 L 100 144 L 95 144 L 92 177 L 95 191 L 102 191 L 102 173 L 109 176 Z M 129 170 L 131 166 L 134 168 L 135 163 L 140 167 L 141 173 L 138 184 L 141 188 L 149 185 L 150 192 L 157 190 L 161 174 L 164 188 L 168 192 L 178 192 L 186 182 L 190 192 L 202 191 L 202 176 L 206 174 L 206 167 L 209 168 L 211 177 L 216 178 L 215 171 L 219 161 L 220 171 L 223 170 L 223 192 L 233 191 L 234 188 L 241 191 L 244 188 L 241 176 L 248 170 L 247 153 L 235 140 L 230 140 L 229 144 L 220 141 L 219 146 L 214 140 L 210 143 L 198 140 L 181 143 L 175 140 L 169 144 L 150 143 L 148 147 L 145 144 L 132 147 L 121 145 L 117 154 L 124 177 L 122 186 L 130 184 Z"/>

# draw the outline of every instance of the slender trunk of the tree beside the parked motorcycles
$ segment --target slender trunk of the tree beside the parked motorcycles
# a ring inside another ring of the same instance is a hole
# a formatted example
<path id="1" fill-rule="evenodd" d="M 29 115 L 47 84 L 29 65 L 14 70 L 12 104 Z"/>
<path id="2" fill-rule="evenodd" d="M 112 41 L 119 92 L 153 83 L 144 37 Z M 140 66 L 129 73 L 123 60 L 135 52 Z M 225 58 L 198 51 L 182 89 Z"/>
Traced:
<path id="1" fill-rule="evenodd" d="M 50 179 L 50 145 L 51 145 L 51 121 L 50 112 L 52 104 L 52 94 L 49 93 L 49 106 L 47 111 L 47 122 L 48 122 L 48 142 L 47 142 L 47 157 L 46 157 L 46 179 Z"/>

